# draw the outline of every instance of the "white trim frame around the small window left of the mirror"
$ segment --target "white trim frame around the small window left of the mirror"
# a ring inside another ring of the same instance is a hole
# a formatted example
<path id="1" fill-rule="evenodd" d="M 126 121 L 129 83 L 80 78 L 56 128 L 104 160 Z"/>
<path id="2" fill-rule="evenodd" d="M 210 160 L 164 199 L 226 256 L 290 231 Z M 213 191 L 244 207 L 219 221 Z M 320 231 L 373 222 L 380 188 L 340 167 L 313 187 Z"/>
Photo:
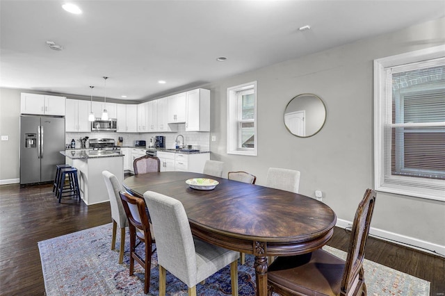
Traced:
<path id="1" fill-rule="evenodd" d="M 254 148 L 238 148 L 238 100 L 236 93 L 242 90 L 254 90 Z M 227 154 L 257 156 L 257 81 L 227 88 Z"/>

